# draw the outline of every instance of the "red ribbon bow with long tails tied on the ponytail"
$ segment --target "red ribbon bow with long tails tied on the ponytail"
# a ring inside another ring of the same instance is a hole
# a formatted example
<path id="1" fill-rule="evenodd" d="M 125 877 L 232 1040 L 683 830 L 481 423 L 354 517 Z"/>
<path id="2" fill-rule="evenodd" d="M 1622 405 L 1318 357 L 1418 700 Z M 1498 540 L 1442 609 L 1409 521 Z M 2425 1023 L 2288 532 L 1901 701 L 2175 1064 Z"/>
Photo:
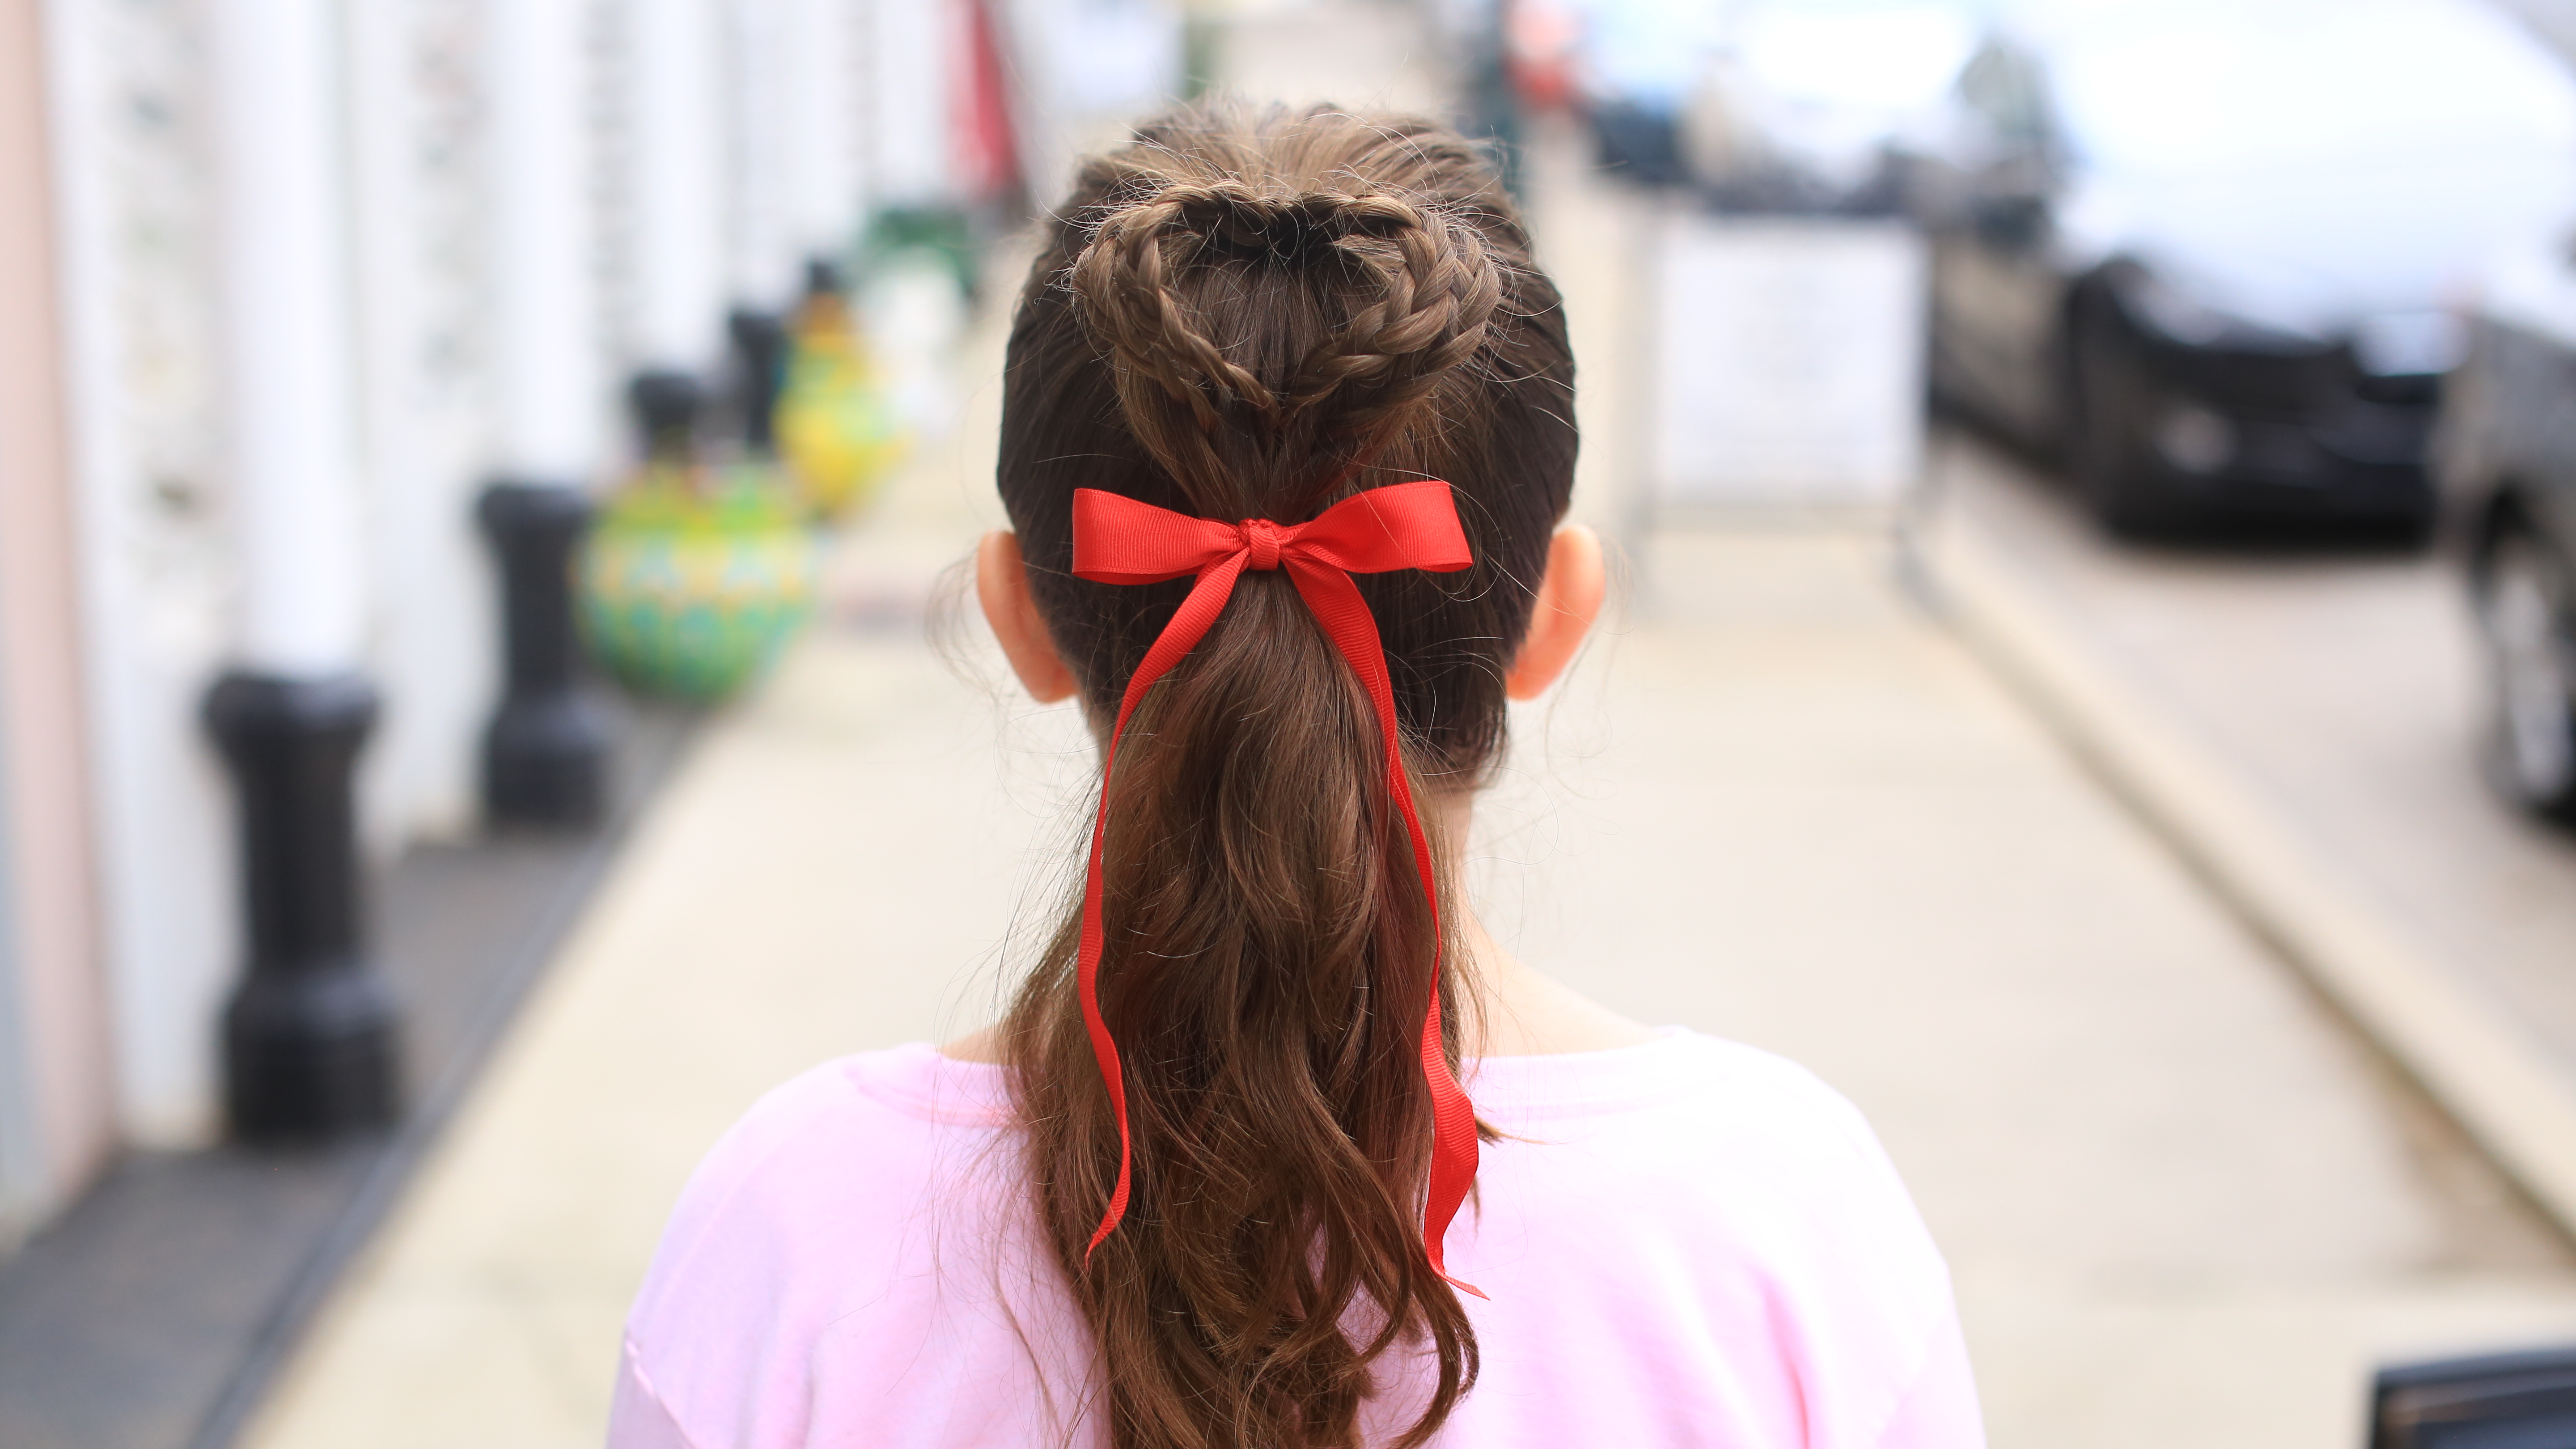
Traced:
<path id="1" fill-rule="evenodd" d="M 1108 753 L 1100 766 L 1100 817 L 1092 820 L 1092 856 L 1082 884 L 1082 957 L 1079 990 L 1082 1021 L 1092 1031 L 1092 1057 L 1100 1062 L 1100 1080 L 1110 1088 L 1110 1111 L 1118 1116 L 1118 1191 L 1110 1194 L 1108 1212 L 1092 1232 L 1090 1248 L 1118 1227 L 1128 1201 L 1128 1122 L 1126 1080 L 1118 1075 L 1118 1044 L 1110 1042 L 1108 1021 L 1100 1018 L 1100 835 L 1108 825 L 1110 789 L 1108 773 L 1118 763 L 1118 735 L 1126 732 L 1136 701 L 1170 673 L 1216 624 L 1234 580 L 1244 570 L 1288 570 L 1298 598 L 1314 611 L 1324 634 L 1342 650 L 1350 668 L 1368 688 L 1368 701 L 1378 709 L 1378 735 L 1386 740 L 1386 794 L 1404 815 L 1404 830 L 1414 846 L 1414 869 L 1422 874 L 1422 900 L 1432 910 L 1432 951 L 1440 938 L 1440 892 L 1432 877 L 1432 848 L 1422 835 L 1422 817 L 1414 815 L 1414 792 L 1404 779 L 1404 758 L 1396 748 L 1396 691 L 1386 678 L 1386 645 L 1378 639 L 1378 621 L 1368 614 L 1368 601 L 1350 583 L 1355 572 L 1432 570 L 1455 572 L 1473 562 L 1466 531 L 1458 529 L 1458 505 L 1450 485 L 1437 480 L 1399 482 L 1373 487 L 1334 503 L 1314 523 L 1273 523 L 1247 518 L 1218 523 L 1190 518 L 1151 503 L 1136 503 L 1097 487 L 1074 490 L 1074 578 L 1092 583 L 1164 583 L 1198 575 L 1190 596 L 1164 624 L 1136 678 L 1128 681 L 1118 701 L 1118 724 L 1110 727 Z M 1422 1199 L 1422 1248 L 1432 1271 L 1448 1279 L 1443 1238 L 1450 1217 L 1466 1201 L 1468 1183 L 1476 1181 L 1476 1109 L 1466 1088 L 1448 1070 L 1440 1049 L 1440 977 L 1437 954 L 1432 959 L 1432 995 L 1422 1013 L 1422 1080 L 1432 1093 L 1432 1173 Z M 1455 1287 L 1476 1292 L 1468 1284 Z M 1476 1294 L 1484 1297 L 1484 1294 Z"/>

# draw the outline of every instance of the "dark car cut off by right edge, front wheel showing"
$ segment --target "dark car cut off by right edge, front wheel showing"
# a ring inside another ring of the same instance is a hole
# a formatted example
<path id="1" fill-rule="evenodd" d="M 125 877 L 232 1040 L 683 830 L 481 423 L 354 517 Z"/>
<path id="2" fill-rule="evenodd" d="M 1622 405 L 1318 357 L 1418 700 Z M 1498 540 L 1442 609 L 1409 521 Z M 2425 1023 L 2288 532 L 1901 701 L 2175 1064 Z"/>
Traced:
<path id="1" fill-rule="evenodd" d="M 2486 642 L 2486 768 L 2576 825 L 2576 263 L 2501 263 L 2445 389 L 2434 472 Z"/>

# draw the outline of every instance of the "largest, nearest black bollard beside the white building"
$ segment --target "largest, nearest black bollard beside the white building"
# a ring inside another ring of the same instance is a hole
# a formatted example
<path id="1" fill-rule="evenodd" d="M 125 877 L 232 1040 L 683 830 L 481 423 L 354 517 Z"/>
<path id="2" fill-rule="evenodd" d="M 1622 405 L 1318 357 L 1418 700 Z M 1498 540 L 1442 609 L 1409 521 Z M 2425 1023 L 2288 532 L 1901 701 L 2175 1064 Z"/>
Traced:
<path id="1" fill-rule="evenodd" d="M 366 678 L 227 673 L 206 730 L 242 815 L 250 964 L 224 1008 L 224 1109 L 242 1142 L 389 1127 L 394 998 L 366 951 L 350 773 L 376 724 Z"/>

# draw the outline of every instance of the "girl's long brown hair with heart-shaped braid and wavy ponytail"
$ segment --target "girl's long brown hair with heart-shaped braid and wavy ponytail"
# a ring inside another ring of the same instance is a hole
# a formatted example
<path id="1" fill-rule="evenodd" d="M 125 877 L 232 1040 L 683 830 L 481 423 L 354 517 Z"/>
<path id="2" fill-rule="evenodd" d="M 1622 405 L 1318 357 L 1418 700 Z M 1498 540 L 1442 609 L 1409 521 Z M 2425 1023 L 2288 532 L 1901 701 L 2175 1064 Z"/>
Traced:
<path id="1" fill-rule="evenodd" d="M 1072 578 L 1077 487 L 1296 523 L 1363 487 L 1448 480 L 1476 565 L 1358 583 L 1412 779 L 1473 789 L 1574 443 L 1558 297 L 1476 147 L 1399 116 L 1180 111 L 1090 160 L 1046 229 L 1010 333 L 999 482 L 1105 727 L 1188 580 Z M 1355 1444 L 1396 1346 L 1437 1366 L 1412 1446 L 1476 1379 L 1419 1225 L 1422 1008 L 1432 962 L 1450 975 L 1458 954 L 1432 941 L 1381 748 L 1280 572 L 1242 578 L 1121 737 L 1097 982 L 1133 1199 L 1090 1261 L 1118 1134 L 1074 998 L 1079 915 L 1005 1021 L 1121 1449 Z"/>

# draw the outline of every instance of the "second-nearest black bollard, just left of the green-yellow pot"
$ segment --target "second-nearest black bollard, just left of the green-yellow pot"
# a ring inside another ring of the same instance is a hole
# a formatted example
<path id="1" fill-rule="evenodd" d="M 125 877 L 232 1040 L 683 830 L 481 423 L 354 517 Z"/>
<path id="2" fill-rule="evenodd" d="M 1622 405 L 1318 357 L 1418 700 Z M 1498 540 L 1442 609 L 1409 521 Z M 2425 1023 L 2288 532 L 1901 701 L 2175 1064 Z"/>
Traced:
<path id="1" fill-rule="evenodd" d="M 474 505 L 500 559 L 505 691 L 484 730 L 492 825 L 587 830 L 608 807 L 608 717 L 582 688 L 572 549 L 590 498 L 546 482 L 495 482 Z"/>

